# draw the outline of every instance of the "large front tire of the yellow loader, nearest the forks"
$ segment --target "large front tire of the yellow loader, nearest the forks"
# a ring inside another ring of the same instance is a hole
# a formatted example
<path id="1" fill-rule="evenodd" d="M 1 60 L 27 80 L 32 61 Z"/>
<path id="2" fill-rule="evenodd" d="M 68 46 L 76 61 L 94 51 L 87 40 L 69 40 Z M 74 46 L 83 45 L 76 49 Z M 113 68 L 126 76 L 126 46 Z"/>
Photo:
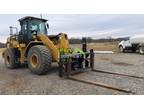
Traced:
<path id="1" fill-rule="evenodd" d="M 36 45 L 28 52 L 28 67 L 32 73 L 37 75 L 46 74 L 51 68 L 51 53 L 43 45 Z"/>

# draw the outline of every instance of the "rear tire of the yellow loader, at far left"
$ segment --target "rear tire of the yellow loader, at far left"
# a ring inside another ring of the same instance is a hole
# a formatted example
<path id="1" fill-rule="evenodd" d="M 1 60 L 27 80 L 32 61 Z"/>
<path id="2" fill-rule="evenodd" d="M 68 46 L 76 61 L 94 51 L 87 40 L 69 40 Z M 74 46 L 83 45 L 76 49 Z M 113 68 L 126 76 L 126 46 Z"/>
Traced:
<path id="1" fill-rule="evenodd" d="M 19 63 L 16 63 L 15 50 L 13 48 L 7 48 L 3 55 L 7 68 L 14 69 L 19 66 Z"/>

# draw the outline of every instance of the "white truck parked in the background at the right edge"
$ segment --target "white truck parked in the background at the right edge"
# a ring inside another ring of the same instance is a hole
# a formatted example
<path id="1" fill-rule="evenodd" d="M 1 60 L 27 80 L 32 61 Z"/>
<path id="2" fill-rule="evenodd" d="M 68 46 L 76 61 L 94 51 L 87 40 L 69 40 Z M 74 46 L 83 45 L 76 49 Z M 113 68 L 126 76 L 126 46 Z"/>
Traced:
<path id="1" fill-rule="evenodd" d="M 139 51 L 140 54 L 144 54 L 144 34 L 135 35 L 129 40 L 123 40 L 119 43 L 119 49 L 121 52 L 131 50 L 132 52 Z"/>

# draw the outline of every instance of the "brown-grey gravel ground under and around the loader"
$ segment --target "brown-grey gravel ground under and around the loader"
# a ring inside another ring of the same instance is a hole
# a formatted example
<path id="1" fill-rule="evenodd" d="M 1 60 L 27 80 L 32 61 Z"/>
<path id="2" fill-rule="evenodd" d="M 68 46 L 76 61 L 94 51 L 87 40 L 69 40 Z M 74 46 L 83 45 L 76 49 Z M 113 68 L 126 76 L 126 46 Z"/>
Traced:
<path id="1" fill-rule="evenodd" d="M 97 54 L 95 69 L 125 73 L 144 77 L 144 55 L 139 54 Z M 135 94 L 144 94 L 144 79 L 126 76 L 86 72 L 77 77 L 99 81 L 123 89 L 130 89 Z M 37 76 L 30 73 L 27 67 L 6 69 L 0 55 L 0 94 L 24 95 L 124 95 L 127 93 L 107 88 L 84 84 L 58 77 L 58 67 L 47 75 Z"/>

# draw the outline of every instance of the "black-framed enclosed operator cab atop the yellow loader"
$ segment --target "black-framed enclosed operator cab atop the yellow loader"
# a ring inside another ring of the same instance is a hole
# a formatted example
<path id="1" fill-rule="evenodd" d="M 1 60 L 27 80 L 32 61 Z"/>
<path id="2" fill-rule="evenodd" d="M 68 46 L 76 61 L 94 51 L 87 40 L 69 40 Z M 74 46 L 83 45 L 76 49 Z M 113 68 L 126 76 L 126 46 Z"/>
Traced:
<path id="1" fill-rule="evenodd" d="M 28 44 L 32 41 L 32 36 L 42 33 L 48 34 L 48 24 L 46 19 L 35 18 L 35 17 L 24 17 L 19 19 L 21 31 L 19 40 L 23 43 Z"/>

